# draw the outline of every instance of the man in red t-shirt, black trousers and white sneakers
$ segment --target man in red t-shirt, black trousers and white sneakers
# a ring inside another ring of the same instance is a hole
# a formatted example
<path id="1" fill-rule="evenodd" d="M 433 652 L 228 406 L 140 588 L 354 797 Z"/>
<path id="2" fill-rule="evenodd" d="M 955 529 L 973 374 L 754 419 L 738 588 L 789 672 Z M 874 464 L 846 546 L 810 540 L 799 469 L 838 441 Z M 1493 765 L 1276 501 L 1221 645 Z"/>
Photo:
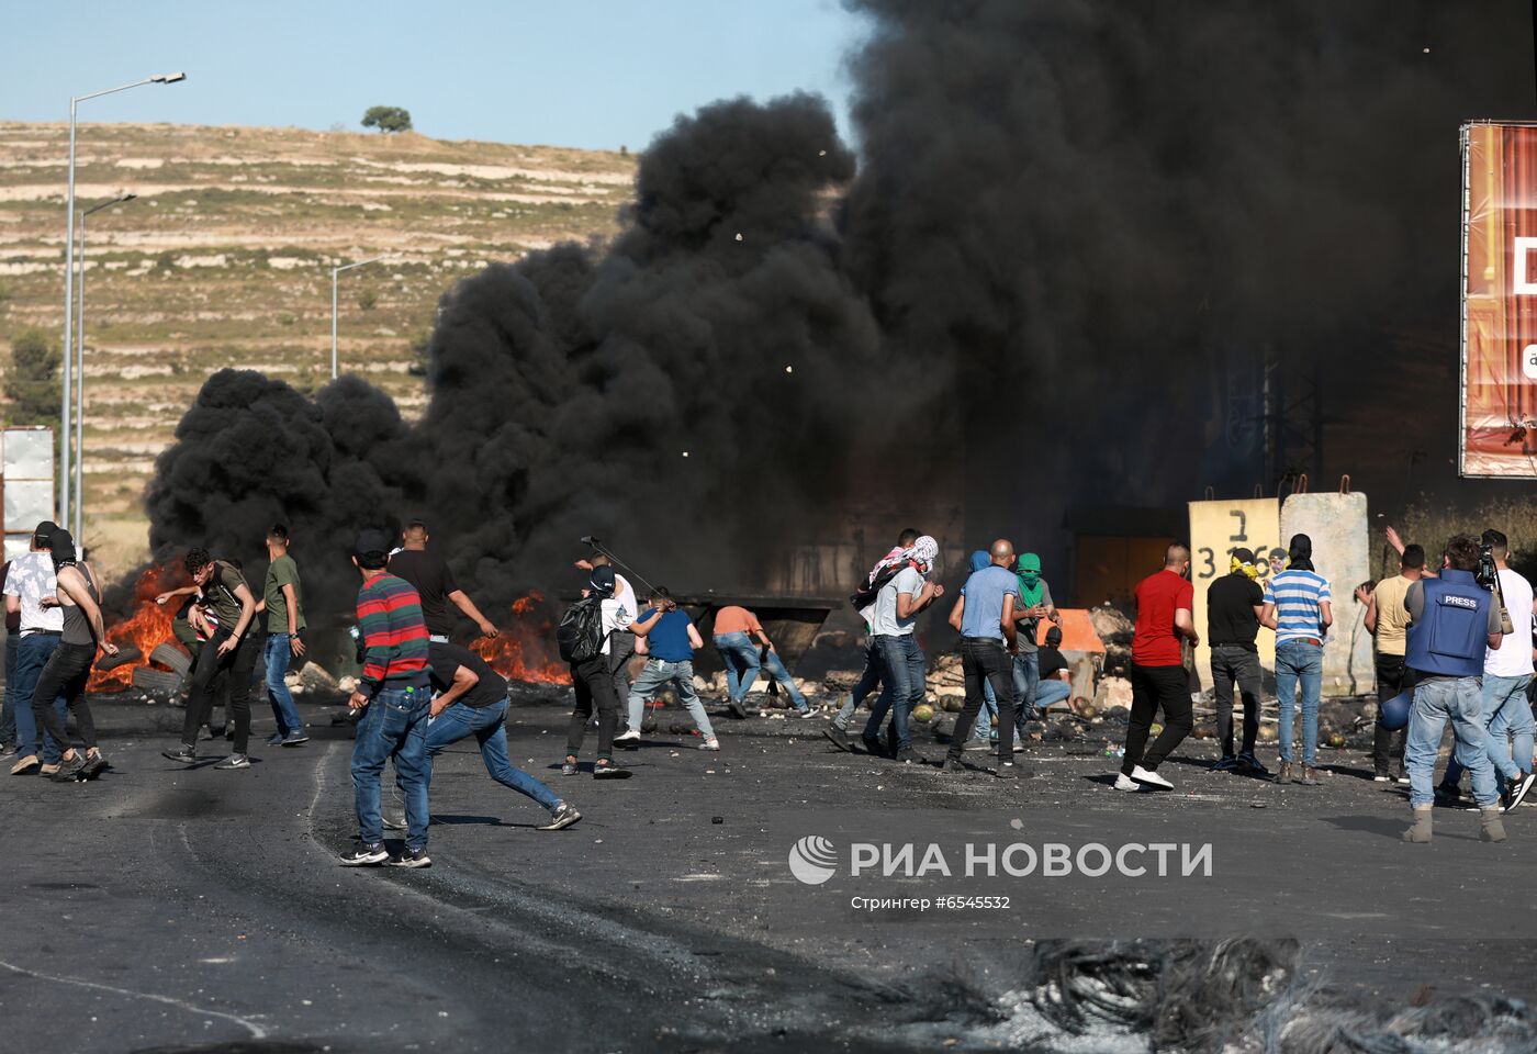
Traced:
<path id="1" fill-rule="evenodd" d="M 1144 784 L 1174 790 L 1159 776 L 1157 767 L 1190 734 L 1193 710 L 1190 676 L 1180 641 L 1200 645 L 1191 616 L 1196 587 L 1190 570 L 1190 549 L 1179 542 L 1164 555 L 1164 570 L 1137 582 L 1137 625 L 1131 636 L 1131 719 L 1127 725 L 1127 754 L 1120 762 L 1116 790 L 1134 791 Z M 1164 711 L 1164 731 L 1148 747 L 1153 718 Z"/>

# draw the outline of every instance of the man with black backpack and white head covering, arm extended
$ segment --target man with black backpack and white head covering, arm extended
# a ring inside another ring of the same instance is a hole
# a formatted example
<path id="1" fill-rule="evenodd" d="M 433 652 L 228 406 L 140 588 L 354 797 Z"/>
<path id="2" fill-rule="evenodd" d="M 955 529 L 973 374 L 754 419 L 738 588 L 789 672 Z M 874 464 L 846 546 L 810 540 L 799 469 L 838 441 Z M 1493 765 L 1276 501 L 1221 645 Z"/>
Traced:
<path id="1" fill-rule="evenodd" d="M 613 673 L 609 668 L 610 641 L 618 631 L 646 636 L 661 619 L 661 613 L 639 622 L 632 621 L 624 605 L 615 599 L 613 590 L 613 568 L 607 565 L 592 568 L 592 579 L 583 590 L 583 599 L 566 610 L 555 630 L 555 641 L 561 658 L 570 664 L 572 687 L 576 690 L 576 707 L 566 730 L 563 776 L 576 774 L 576 759 L 581 756 L 583 739 L 587 737 L 593 707 L 598 710 L 598 761 L 593 764 L 593 779 L 624 779 L 630 774 L 629 768 L 613 764 L 613 730 L 619 714 Z"/>

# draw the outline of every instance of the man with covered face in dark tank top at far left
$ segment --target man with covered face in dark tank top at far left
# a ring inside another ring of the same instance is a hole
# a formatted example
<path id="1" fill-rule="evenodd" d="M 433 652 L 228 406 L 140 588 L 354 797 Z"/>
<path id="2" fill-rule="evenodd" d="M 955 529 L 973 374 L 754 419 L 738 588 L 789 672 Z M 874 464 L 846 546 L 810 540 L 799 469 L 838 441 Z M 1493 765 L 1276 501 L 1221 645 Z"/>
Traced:
<path id="1" fill-rule="evenodd" d="M 106 768 L 106 757 L 97 750 L 95 722 L 91 719 L 91 704 L 86 702 L 86 681 L 91 679 L 97 647 L 100 645 L 108 655 L 117 655 L 117 645 L 106 639 L 95 582 L 77 567 L 74 538 L 68 530 L 55 530 L 49 549 L 65 628 L 60 631 L 58 647 L 37 678 L 32 714 L 65 748 L 54 779 L 69 782 L 91 779 Z M 80 739 L 86 747 L 83 751 L 69 745 L 69 733 L 54 707 L 58 696 L 68 701 L 69 711 L 75 716 L 75 728 L 80 730 Z"/>

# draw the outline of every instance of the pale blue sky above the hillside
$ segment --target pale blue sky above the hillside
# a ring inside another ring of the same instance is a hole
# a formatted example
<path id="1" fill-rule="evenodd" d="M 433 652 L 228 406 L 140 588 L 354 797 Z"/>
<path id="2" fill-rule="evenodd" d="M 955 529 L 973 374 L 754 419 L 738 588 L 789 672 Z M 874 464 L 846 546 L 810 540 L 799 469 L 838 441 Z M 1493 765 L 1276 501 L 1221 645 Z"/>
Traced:
<path id="1" fill-rule="evenodd" d="M 358 128 L 404 106 L 418 132 L 632 151 L 679 112 L 795 89 L 833 103 L 867 32 L 838 0 L 6 0 L 0 118 Z M 25 14 L 23 14 L 25 11 Z"/>

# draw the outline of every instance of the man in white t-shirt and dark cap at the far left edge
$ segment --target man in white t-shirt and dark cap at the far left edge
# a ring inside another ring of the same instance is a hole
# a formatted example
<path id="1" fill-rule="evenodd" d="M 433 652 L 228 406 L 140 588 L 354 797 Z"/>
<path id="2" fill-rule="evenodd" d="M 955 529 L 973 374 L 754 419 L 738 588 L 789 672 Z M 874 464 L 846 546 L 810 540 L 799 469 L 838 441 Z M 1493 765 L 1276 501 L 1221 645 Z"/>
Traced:
<path id="1" fill-rule="evenodd" d="M 22 639 L 15 655 L 15 739 L 17 759 L 11 765 L 12 776 L 40 771 L 48 776 L 58 771 L 63 748 L 46 730 L 37 727 L 32 716 L 32 693 L 37 678 L 48 665 L 65 630 L 65 610 L 55 595 L 54 556 L 49 549 L 57 524 L 43 521 L 32 532 L 32 544 L 26 553 L 11 561 L 11 573 L 5 581 L 6 612 L 22 615 Z M 68 701 L 54 701 L 63 721 Z M 41 741 L 41 742 L 38 742 Z M 38 757 L 41 756 L 41 757 Z"/>

